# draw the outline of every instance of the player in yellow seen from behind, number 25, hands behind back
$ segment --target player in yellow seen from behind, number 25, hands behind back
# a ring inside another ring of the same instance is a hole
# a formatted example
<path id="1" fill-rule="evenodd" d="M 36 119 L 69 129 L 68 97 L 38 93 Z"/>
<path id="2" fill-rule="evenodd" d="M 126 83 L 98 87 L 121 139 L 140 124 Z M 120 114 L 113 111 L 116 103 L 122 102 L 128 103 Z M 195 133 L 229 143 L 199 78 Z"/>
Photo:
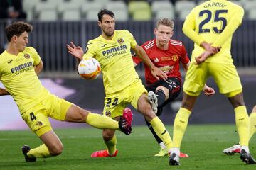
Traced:
<path id="1" fill-rule="evenodd" d="M 197 96 L 210 76 L 235 110 L 235 123 L 241 145 L 240 158 L 247 164 L 256 164 L 248 147 L 249 118 L 243 101 L 242 85 L 230 54 L 232 35 L 242 23 L 243 15 L 243 8 L 230 1 L 210 0 L 193 8 L 183 23 L 183 33 L 195 45 L 183 85 L 182 105 L 174 120 L 170 165 L 179 165 L 178 155 L 188 118 Z"/>

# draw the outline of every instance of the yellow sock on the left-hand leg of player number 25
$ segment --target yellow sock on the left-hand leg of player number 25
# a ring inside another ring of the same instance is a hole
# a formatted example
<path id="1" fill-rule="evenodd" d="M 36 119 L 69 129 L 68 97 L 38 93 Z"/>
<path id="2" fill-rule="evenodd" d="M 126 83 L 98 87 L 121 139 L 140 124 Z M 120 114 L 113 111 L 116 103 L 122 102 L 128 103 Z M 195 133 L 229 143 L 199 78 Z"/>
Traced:
<path id="1" fill-rule="evenodd" d="M 181 147 L 181 141 L 188 125 L 188 118 L 191 115 L 191 111 L 186 108 L 180 108 L 176 114 L 174 120 L 174 146 Z"/>

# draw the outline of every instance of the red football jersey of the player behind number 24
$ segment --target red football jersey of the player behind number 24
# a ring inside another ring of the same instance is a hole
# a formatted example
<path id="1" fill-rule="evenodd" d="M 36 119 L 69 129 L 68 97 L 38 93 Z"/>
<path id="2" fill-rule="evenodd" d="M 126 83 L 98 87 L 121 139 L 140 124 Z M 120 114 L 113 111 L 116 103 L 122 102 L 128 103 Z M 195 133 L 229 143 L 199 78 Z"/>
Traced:
<path id="1" fill-rule="evenodd" d="M 154 39 L 145 42 L 142 47 L 156 67 L 159 67 L 168 77 L 176 77 L 181 81 L 180 62 L 183 64 L 189 62 L 186 49 L 182 42 L 170 40 L 168 50 L 160 50 L 156 46 L 156 39 Z M 136 64 L 141 62 L 137 56 L 134 56 L 133 60 Z M 156 79 L 146 64 L 144 64 L 144 67 L 146 84 L 153 84 Z"/>

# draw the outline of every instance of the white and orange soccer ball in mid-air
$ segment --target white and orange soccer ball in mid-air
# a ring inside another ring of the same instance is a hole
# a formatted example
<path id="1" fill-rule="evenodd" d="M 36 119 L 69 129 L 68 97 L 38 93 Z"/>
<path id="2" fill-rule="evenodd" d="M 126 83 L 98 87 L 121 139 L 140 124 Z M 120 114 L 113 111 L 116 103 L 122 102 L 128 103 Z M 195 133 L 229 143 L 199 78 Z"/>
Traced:
<path id="1" fill-rule="evenodd" d="M 78 64 L 78 73 L 83 79 L 96 79 L 100 71 L 100 63 L 92 57 L 83 59 Z"/>

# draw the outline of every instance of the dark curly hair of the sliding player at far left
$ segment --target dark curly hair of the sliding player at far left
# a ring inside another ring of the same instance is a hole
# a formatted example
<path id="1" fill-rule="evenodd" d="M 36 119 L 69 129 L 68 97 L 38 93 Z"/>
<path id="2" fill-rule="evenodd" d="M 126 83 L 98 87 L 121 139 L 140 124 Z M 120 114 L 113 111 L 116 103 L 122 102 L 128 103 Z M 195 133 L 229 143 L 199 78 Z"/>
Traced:
<path id="1" fill-rule="evenodd" d="M 19 36 L 25 31 L 27 33 L 31 33 L 33 30 L 33 26 L 30 23 L 25 23 L 23 21 L 18 21 L 11 23 L 9 26 L 6 26 L 5 31 L 6 31 L 6 37 L 8 42 L 11 41 L 11 38 L 16 35 Z"/>

